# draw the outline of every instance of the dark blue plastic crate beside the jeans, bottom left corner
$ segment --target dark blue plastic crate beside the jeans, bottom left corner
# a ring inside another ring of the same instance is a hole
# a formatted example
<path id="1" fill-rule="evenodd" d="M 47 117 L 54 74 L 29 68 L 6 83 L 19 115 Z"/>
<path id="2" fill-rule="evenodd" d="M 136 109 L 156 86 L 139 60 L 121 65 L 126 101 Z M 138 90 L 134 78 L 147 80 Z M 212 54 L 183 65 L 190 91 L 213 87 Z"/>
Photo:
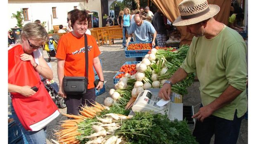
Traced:
<path id="1" fill-rule="evenodd" d="M 8 144 L 28 144 L 19 126 L 14 121 L 8 124 Z"/>

